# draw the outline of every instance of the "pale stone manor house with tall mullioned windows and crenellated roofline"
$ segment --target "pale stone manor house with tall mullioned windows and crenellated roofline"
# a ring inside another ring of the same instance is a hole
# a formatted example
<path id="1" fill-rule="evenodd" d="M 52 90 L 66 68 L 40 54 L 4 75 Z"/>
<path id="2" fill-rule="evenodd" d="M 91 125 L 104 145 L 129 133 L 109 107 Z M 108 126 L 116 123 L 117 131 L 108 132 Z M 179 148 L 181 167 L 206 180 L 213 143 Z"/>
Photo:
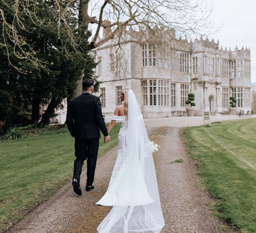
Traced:
<path id="1" fill-rule="evenodd" d="M 106 31 L 104 33 L 107 33 Z M 103 33 L 103 36 L 104 36 Z M 251 111 L 250 49 L 219 48 L 219 41 L 182 40 L 173 43 L 164 59 L 157 46 L 123 42 L 123 74 L 116 76 L 114 39 L 94 50 L 98 62 L 102 112 L 106 121 L 123 88 L 133 89 L 144 118 L 186 116 L 188 93 L 195 94 L 196 115 L 203 111 L 228 113 L 229 97 L 237 99 L 237 112 Z"/>

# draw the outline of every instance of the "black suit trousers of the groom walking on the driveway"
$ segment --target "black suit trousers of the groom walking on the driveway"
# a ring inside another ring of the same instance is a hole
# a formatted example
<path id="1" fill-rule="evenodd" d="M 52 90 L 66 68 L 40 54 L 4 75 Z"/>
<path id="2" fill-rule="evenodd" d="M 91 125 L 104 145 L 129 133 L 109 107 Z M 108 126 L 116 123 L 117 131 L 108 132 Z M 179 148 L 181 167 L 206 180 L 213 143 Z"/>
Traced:
<path id="1" fill-rule="evenodd" d="M 75 139 L 74 175 L 80 181 L 82 166 L 87 159 L 87 182 L 86 185 L 92 185 L 99 149 L 99 138 Z"/>

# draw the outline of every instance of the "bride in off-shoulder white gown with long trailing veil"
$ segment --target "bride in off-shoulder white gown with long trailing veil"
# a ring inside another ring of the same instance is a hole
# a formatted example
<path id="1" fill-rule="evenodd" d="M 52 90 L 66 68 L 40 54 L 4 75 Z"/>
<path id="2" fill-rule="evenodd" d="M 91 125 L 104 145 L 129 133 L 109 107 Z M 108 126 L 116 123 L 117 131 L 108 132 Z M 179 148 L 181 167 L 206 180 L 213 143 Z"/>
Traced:
<path id="1" fill-rule="evenodd" d="M 117 106 L 108 132 L 116 121 L 118 154 L 107 192 L 96 203 L 113 206 L 97 228 L 103 232 L 158 233 L 164 226 L 154 161 L 137 99 L 130 89 L 120 95 L 123 105 Z"/>

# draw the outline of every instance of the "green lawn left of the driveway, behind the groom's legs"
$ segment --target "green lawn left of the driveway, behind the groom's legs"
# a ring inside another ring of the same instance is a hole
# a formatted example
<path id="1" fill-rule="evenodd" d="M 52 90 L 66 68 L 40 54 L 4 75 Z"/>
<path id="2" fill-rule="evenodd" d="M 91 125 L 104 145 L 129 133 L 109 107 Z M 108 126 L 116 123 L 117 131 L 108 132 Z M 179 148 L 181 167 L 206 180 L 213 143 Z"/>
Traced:
<path id="1" fill-rule="evenodd" d="M 117 123 L 111 130 L 111 142 L 100 138 L 99 156 L 117 144 L 119 128 Z M 74 154 L 74 138 L 66 128 L 0 140 L 0 232 L 71 182 Z"/>

